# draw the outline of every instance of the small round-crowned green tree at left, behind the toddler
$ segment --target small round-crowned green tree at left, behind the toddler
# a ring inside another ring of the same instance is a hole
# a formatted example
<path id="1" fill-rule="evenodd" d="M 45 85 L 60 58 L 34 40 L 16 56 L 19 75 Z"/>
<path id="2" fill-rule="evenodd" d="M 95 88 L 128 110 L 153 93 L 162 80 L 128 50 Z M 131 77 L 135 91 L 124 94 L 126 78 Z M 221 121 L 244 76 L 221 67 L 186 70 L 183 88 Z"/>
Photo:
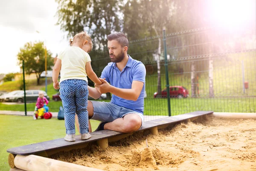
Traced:
<path id="1" fill-rule="evenodd" d="M 53 66 L 52 53 L 47 50 L 47 70 L 51 70 Z M 28 42 L 17 54 L 18 64 L 22 66 L 24 60 L 24 70 L 26 74 L 35 73 L 37 84 L 40 83 L 40 75 L 45 70 L 45 48 L 44 42 Z"/>

